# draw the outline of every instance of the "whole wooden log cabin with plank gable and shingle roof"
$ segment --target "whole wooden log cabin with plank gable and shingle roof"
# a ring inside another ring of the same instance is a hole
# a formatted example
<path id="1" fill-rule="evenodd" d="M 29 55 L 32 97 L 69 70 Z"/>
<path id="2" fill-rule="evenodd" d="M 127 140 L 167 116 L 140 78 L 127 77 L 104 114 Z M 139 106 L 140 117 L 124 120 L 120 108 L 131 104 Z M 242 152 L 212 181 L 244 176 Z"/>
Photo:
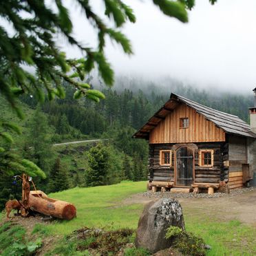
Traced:
<path id="1" fill-rule="evenodd" d="M 176 94 L 134 134 L 149 140 L 152 191 L 195 193 L 245 186 L 253 178 L 248 149 L 255 137 L 237 116 Z"/>

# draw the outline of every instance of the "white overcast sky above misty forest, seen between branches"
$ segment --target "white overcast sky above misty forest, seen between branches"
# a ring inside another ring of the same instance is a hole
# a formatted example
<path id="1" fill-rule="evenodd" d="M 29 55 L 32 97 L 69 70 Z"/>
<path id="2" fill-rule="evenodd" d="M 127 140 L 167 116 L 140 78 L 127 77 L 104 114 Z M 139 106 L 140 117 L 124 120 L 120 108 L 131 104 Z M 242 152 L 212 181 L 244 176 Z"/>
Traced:
<path id="1" fill-rule="evenodd" d="M 151 0 L 127 0 L 137 17 L 123 32 L 131 40 L 134 55 L 107 43 L 107 57 L 116 74 L 159 78 L 170 76 L 200 87 L 251 92 L 256 85 L 256 1 L 222 0 L 211 6 L 196 1 L 189 23 L 165 17 Z M 71 2 L 70 2 L 71 3 Z M 100 10 L 94 0 L 95 9 Z M 94 30 L 84 23 L 77 6 L 69 6 L 74 32 L 93 46 Z M 102 6 L 101 6 L 102 8 Z M 68 49 L 70 56 L 80 52 Z"/>

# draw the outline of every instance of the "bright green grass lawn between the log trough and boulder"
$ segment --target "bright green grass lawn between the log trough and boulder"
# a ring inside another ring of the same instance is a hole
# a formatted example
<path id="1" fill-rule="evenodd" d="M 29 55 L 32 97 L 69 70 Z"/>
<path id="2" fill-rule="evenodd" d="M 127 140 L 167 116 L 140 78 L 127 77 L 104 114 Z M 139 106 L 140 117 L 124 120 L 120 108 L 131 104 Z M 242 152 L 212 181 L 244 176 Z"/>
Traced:
<path id="1" fill-rule="evenodd" d="M 71 221 L 54 222 L 50 231 L 68 234 L 81 226 L 108 228 L 136 228 L 142 212 L 141 204 L 123 205 L 129 195 L 145 191 L 146 182 L 121 182 L 111 186 L 74 188 L 49 196 L 71 202 L 76 206 L 77 217 Z"/>

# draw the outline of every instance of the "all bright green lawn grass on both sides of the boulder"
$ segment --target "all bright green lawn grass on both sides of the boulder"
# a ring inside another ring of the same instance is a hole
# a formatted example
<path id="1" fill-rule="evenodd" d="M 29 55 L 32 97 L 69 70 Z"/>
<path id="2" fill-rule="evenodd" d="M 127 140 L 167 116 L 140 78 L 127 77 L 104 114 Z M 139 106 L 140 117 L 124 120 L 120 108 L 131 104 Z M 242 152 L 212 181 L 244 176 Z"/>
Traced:
<path id="1" fill-rule="evenodd" d="M 52 193 L 52 198 L 72 202 L 76 206 L 77 217 L 71 221 L 54 221 L 46 226 L 40 224 L 36 227 L 36 232 L 63 237 L 83 226 L 136 228 L 143 205 L 125 205 L 122 200 L 145 189 L 146 182 L 122 182 L 111 186 L 75 188 Z M 192 214 L 186 212 L 184 206 L 186 231 L 200 235 L 206 244 L 212 246 L 207 255 L 256 255 L 255 227 L 237 220 L 225 222 L 217 219 L 217 213 L 209 214 Z"/>

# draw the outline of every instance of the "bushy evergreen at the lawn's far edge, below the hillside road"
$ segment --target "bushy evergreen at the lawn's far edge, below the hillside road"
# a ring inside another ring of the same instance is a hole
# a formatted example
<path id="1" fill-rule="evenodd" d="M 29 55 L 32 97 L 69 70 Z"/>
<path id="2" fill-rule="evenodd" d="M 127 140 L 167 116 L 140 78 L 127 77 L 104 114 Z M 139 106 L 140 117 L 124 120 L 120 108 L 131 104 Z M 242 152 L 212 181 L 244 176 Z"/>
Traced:
<path id="1" fill-rule="evenodd" d="M 87 186 L 100 186 L 107 184 L 107 171 L 109 167 L 109 152 L 101 143 L 88 152 L 89 169 L 85 173 Z"/>

